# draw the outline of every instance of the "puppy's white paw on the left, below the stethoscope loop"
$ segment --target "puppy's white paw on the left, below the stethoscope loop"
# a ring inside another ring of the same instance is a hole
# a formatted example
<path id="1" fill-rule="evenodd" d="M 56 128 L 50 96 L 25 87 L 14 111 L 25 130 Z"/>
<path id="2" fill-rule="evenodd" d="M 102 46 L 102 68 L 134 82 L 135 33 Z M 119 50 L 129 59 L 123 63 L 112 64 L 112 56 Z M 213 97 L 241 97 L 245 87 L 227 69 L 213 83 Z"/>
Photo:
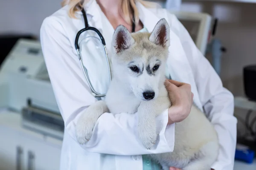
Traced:
<path id="1" fill-rule="evenodd" d="M 76 139 L 79 144 L 85 144 L 93 135 L 93 127 L 96 121 L 89 115 L 84 113 L 76 124 Z"/>

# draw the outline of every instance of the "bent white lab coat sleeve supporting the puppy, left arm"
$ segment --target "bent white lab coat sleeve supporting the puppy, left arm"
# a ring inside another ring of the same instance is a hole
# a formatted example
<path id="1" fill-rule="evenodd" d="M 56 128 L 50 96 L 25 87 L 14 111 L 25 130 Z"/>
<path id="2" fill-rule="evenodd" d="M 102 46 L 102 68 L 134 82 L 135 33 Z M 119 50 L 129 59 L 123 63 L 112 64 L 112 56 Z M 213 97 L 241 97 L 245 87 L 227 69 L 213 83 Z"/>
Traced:
<path id="1" fill-rule="evenodd" d="M 84 78 L 74 42 L 66 36 L 65 30 L 58 18 L 47 17 L 41 26 L 41 46 L 65 130 L 78 144 L 76 122 L 96 99 Z M 90 141 L 81 147 L 89 152 L 115 155 L 169 152 L 174 146 L 175 125 L 167 125 L 167 122 L 168 110 L 157 117 L 158 141 L 154 148 L 147 150 L 137 136 L 137 114 L 103 113 Z"/>

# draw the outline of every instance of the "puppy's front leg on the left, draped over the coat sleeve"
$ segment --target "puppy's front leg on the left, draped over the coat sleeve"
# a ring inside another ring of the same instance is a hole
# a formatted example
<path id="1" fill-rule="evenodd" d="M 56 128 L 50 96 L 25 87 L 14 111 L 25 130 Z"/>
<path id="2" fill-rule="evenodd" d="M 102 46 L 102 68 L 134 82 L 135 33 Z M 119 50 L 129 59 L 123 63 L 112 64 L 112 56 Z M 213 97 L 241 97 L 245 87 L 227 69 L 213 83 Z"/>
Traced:
<path id="1" fill-rule="evenodd" d="M 108 112 L 105 101 L 97 101 L 90 105 L 84 113 L 81 113 L 76 124 L 76 139 L 80 144 L 88 142 L 93 134 L 93 127 L 99 116 Z"/>

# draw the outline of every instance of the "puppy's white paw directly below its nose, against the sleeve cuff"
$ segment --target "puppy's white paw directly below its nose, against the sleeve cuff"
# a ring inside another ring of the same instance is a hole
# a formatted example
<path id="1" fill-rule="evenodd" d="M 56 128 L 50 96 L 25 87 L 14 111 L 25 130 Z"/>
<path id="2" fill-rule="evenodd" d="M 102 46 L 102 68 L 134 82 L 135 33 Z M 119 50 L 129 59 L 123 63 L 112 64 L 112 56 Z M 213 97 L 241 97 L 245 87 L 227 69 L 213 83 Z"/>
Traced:
<path id="1" fill-rule="evenodd" d="M 147 149 L 151 149 L 154 146 L 157 140 L 157 133 L 152 127 L 143 127 L 142 125 L 138 126 L 139 129 L 139 137 L 142 141 L 143 145 Z"/>

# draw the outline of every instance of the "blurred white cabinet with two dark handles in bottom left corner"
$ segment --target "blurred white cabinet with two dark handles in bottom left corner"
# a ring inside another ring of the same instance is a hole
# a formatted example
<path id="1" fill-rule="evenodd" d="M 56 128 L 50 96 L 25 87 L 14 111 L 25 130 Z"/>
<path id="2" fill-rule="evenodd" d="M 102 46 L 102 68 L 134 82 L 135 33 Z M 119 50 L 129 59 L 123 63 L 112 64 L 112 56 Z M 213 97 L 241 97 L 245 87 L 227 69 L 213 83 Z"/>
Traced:
<path id="1" fill-rule="evenodd" d="M 21 127 L 22 128 L 22 127 Z M 0 170 L 58 170 L 61 145 L 44 136 L 0 125 Z"/>

